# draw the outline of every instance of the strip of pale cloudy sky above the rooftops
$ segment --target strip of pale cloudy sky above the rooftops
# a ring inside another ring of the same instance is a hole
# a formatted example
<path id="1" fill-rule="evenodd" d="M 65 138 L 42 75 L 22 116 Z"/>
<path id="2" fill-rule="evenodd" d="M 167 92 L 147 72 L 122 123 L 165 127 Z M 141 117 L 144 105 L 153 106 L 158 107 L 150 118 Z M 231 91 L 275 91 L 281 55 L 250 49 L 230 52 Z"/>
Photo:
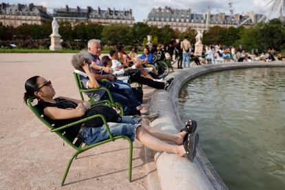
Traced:
<path id="1" fill-rule="evenodd" d="M 70 8 L 76 8 L 79 6 L 81 8 L 87 8 L 87 6 L 92 6 L 92 8 L 97 9 L 98 6 L 101 10 L 107 10 L 107 8 L 115 8 L 116 10 L 133 10 L 133 16 L 136 22 L 147 19 L 147 16 L 152 8 L 165 8 L 169 6 L 173 9 L 188 9 L 191 8 L 191 12 L 202 13 L 206 12 L 209 6 L 211 13 L 226 12 L 229 14 L 229 2 L 231 0 L 108 0 L 108 1 L 98 1 L 98 0 L 2 0 L 2 2 L 10 4 L 28 4 L 34 3 L 34 5 L 41 5 L 47 8 L 47 11 L 52 13 L 54 8 L 64 8 L 68 5 Z M 268 10 L 268 2 L 270 0 L 233 0 L 232 9 L 235 13 L 246 13 L 255 12 L 264 14 Z M 267 5 L 267 6 L 266 6 Z"/>

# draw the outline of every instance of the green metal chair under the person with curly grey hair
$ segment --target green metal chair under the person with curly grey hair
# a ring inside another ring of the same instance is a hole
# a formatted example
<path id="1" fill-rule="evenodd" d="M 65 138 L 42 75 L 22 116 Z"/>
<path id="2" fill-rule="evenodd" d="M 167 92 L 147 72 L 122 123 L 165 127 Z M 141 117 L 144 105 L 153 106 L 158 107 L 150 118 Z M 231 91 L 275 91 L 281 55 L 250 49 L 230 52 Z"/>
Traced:
<path id="1" fill-rule="evenodd" d="M 84 101 L 84 97 L 83 97 L 83 92 L 84 93 L 88 93 L 88 92 L 94 92 L 94 91 L 101 91 L 101 90 L 105 90 L 109 96 L 109 100 L 103 100 L 103 101 L 98 101 L 98 102 L 95 102 L 93 98 L 89 97 L 89 102 L 92 104 L 92 105 L 98 105 L 98 104 L 106 104 L 106 105 L 109 105 L 109 106 L 112 106 L 112 107 L 119 107 L 120 108 L 120 115 L 121 116 L 124 116 L 124 107 L 122 104 L 118 103 L 118 102 L 115 102 L 114 101 L 114 98 L 112 97 L 112 94 L 111 92 L 109 91 L 109 89 L 105 88 L 105 87 L 101 87 L 101 88 L 90 88 L 90 89 L 83 89 L 83 85 L 80 81 L 80 76 L 78 73 L 74 72 L 74 80 L 75 80 L 75 83 L 76 83 L 76 86 L 78 88 L 78 92 L 80 94 L 80 97 L 81 97 L 81 100 Z"/>

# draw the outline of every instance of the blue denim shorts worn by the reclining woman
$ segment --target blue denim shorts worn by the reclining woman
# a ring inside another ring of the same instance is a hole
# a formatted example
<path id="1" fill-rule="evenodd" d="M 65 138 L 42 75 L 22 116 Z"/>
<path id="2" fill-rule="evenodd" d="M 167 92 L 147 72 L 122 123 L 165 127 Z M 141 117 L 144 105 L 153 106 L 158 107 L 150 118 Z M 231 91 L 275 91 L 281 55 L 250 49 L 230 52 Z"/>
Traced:
<path id="1" fill-rule="evenodd" d="M 123 116 L 122 118 L 118 118 L 118 123 L 109 122 L 107 124 L 114 136 L 125 135 L 134 141 L 136 138 L 136 128 L 140 126 L 140 124 L 138 124 L 140 120 L 141 118 L 134 116 Z M 109 138 L 105 125 L 101 127 L 84 127 L 84 129 L 79 132 L 79 136 L 83 138 L 83 142 L 87 145 Z"/>

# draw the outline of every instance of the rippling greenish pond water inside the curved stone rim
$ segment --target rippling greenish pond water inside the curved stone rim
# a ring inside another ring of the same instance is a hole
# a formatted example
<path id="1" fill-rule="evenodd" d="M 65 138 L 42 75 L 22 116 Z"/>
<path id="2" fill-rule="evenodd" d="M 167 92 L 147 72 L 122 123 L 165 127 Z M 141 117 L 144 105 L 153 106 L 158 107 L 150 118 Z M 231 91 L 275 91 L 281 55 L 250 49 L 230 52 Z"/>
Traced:
<path id="1" fill-rule="evenodd" d="M 206 74 L 181 89 L 182 116 L 229 189 L 285 189 L 285 69 Z"/>

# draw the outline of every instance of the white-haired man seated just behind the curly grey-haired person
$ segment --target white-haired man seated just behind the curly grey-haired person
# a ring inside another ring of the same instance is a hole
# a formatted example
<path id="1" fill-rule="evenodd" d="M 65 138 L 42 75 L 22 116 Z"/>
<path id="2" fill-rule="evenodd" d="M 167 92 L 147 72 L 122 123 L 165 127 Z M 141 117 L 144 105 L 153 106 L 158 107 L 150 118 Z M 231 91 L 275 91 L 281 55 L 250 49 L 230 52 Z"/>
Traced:
<path id="1" fill-rule="evenodd" d="M 107 78 L 109 81 L 116 81 L 115 76 L 110 72 L 105 72 L 105 70 L 110 69 L 109 67 L 103 67 L 102 61 L 99 59 L 101 55 L 101 41 L 92 39 L 88 41 L 88 52 L 92 56 L 91 73 L 96 78 L 97 81 L 100 81 L 103 78 Z M 111 71 L 112 72 L 112 71 Z M 171 87 L 171 82 L 173 78 L 169 79 L 166 82 L 153 81 L 150 78 L 145 78 L 141 76 L 139 72 L 134 72 L 129 74 L 131 81 L 140 83 L 142 85 L 148 85 L 149 87 L 154 87 L 156 89 L 169 89 Z"/>

